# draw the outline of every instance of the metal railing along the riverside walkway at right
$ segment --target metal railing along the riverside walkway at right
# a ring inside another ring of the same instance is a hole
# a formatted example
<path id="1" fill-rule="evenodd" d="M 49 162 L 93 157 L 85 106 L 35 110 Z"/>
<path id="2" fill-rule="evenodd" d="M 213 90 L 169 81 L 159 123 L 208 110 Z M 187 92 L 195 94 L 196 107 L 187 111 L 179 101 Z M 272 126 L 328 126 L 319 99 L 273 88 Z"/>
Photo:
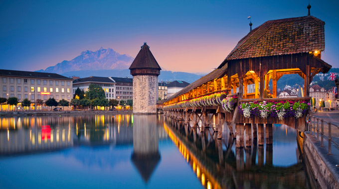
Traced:
<path id="1" fill-rule="evenodd" d="M 312 121 L 313 119 L 313 121 Z M 316 121 L 317 120 L 317 121 Z M 319 130 L 319 120 L 321 121 L 321 130 Z M 317 130 L 317 139 L 319 140 L 319 132 L 321 135 L 321 145 L 320 147 L 325 147 L 324 146 L 324 138 L 326 138 L 329 142 L 329 153 L 327 155 L 332 156 L 332 143 L 334 144 L 334 146 L 339 150 L 339 144 L 332 140 L 332 126 L 335 126 L 337 129 L 339 129 L 338 125 L 335 125 L 331 122 L 327 122 L 324 121 L 324 119 L 319 119 L 318 117 L 312 116 L 312 115 L 307 115 L 307 124 L 308 124 L 308 131 L 311 131 L 311 134 L 313 136 L 316 135 L 316 130 Z M 313 124 L 312 124 L 313 122 Z M 329 132 L 328 132 L 328 136 L 324 133 L 324 123 L 328 124 L 329 126 Z M 312 131 L 313 129 L 313 131 Z M 339 167 L 339 164 L 336 165 L 337 167 Z"/>

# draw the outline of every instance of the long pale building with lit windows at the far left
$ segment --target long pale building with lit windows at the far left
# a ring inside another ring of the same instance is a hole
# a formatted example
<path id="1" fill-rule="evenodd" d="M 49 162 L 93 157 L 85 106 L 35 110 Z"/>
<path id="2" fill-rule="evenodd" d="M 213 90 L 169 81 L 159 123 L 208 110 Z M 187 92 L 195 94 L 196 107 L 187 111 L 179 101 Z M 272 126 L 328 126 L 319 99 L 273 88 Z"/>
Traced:
<path id="1" fill-rule="evenodd" d="M 31 109 L 36 108 L 36 99 L 45 101 L 48 98 L 55 98 L 57 101 L 61 99 L 70 101 L 73 97 L 72 86 L 71 78 L 59 74 L 0 70 L 1 97 L 15 96 L 19 102 L 27 98 L 32 102 Z"/>

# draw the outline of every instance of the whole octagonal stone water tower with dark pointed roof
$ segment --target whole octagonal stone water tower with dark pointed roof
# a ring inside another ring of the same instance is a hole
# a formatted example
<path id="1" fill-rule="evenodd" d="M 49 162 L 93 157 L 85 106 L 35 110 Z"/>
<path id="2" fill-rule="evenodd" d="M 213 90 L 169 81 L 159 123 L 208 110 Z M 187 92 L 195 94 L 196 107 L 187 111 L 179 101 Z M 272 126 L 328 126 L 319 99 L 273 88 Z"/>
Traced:
<path id="1" fill-rule="evenodd" d="M 146 43 L 129 69 L 133 76 L 133 113 L 157 113 L 161 68 Z"/>

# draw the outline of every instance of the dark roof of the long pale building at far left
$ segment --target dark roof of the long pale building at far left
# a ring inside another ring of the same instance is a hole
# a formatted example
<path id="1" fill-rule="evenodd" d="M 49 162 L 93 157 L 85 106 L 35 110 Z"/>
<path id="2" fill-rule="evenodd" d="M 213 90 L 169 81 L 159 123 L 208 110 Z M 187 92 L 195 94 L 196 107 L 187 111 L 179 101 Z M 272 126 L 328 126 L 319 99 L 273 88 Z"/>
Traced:
<path id="1" fill-rule="evenodd" d="M 27 72 L 18 70 L 0 70 L 0 76 L 72 80 L 72 78 L 67 78 L 65 76 L 61 76 L 59 74 L 54 73 Z"/>

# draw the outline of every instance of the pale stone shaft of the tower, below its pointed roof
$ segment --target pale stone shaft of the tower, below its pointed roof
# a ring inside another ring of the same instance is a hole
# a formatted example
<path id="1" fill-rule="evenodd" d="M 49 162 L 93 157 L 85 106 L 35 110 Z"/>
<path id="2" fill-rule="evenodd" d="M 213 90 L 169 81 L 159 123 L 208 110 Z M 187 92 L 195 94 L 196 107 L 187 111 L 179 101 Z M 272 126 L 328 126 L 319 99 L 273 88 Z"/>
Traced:
<path id="1" fill-rule="evenodd" d="M 133 76 L 133 113 L 157 113 L 158 76 Z"/>

